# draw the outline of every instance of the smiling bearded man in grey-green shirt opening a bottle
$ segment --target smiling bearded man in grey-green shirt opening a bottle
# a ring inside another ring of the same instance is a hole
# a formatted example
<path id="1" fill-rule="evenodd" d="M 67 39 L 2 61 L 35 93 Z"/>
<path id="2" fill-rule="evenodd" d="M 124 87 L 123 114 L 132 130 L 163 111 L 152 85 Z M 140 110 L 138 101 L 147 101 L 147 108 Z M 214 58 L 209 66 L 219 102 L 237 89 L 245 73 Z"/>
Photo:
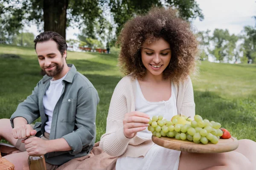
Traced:
<path id="1" fill-rule="evenodd" d="M 60 34 L 44 32 L 34 42 L 46 75 L 10 120 L 0 119 L 0 138 L 20 151 L 4 156 L 15 164 L 15 170 L 27 166 L 29 155 L 43 154 L 47 170 L 55 170 L 93 148 L 99 96 L 92 83 L 67 64 L 67 44 Z M 39 117 L 41 122 L 30 125 Z M 32 135 L 35 137 L 26 139 Z"/>

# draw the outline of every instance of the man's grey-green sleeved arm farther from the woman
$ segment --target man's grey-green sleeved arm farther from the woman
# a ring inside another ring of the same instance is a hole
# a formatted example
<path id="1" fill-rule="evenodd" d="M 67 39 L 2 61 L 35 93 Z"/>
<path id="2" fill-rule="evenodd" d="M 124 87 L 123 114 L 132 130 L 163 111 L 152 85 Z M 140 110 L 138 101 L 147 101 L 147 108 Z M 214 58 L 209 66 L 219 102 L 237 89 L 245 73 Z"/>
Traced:
<path id="1" fill-rule="evenodd" d="M 38 107 L 39 84 L 40 82 L 38 82 L 37 86 L 34 88 L 34 91 L 32 91 L 32 94 L 28 96 L 24 102 L 20 103 L 16 111 L 12 114 L 10 118 L 12 127 L 24 125 L 24 123 L 31 124 L 35 119 L 40 116 Z M 26 122 L 20 118 L 16 119 L 18 117 L 24 118 Z M 16 125 L 14 125 L 14 119 Z M 18 120 L 20 120 L 21 122 L 19 122 Z"/>

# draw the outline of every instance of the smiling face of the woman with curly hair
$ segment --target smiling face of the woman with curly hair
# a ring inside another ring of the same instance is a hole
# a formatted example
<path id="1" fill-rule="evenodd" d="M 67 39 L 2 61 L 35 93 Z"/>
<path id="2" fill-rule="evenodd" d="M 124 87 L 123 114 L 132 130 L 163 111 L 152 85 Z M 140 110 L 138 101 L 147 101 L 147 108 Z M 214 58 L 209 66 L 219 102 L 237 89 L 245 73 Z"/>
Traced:
<path id="1" fill-rule="evenodd" d="M 171 48 L 163 38 L 151 43 L 144 44 L 141 49 L 142 63 L 147 69 L 147 74 L 154 76 L 162 75 L 172 57 Z"/>

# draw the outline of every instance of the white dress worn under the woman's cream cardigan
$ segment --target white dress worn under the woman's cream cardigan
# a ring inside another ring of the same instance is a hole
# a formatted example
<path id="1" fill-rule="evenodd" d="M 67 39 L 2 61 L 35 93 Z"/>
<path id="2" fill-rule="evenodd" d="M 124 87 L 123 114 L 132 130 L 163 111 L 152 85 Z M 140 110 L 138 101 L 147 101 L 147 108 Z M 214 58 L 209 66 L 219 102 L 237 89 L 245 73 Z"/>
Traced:
<path id="1" fill-rule="evenodd" d="M 140 89 L 140 84 L 136 79 L 136 103 L 135 111 L 148 114 L 151 118 L 154 115 L 163 115 L 164 119 L 171 120 L 177 115 L 175 98 L 175 86 L 172 83 L 172 96 L 168 101 L 149 102 Z M 141 138 L 151 139 L 152 133 L 145 129 L 137 133 Z M 121 157 L 116 161 L 116 170 L 178 170 L 180 161 L 180 151 L 171 150 L 154 144 L 144 158 Z"/>

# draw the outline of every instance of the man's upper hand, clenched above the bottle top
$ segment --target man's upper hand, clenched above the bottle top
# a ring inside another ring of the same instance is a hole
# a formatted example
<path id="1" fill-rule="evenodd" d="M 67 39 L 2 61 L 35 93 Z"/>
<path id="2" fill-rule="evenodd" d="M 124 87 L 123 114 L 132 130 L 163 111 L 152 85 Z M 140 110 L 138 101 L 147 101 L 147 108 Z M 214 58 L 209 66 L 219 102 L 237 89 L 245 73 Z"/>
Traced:
<path id="1" fill-rule="evenodd" d="M 12 129 L 12 136 L 15 139 L 25 139 L 26 137 L 36 134 L 30 125 L 20 125 Z"/>

